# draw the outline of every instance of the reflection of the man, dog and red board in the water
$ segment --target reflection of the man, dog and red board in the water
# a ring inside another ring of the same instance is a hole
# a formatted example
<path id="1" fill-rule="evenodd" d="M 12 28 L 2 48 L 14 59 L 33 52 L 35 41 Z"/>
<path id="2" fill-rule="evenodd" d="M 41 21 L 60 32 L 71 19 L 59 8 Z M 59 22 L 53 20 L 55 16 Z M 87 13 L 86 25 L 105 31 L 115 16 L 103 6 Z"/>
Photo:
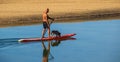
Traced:
<path id="1" fill-rule="evenodd" d="M 52 56 L 52 54 L 50 53 L 50 47 L 55 47 L 55 46 L 59 46 L 59 44 L 61 43 L 61 41 L 65 41 L 65 40 L 75 40 L 76 38 L 64 38 L 64 39 L 60 39 L 60 40 L 55 40 L 55 41 L 48 41 L 48 46 L 46 47 L 44 44 L 44 41 L 42 41 L 42 47 L 43 47 L 43 58 L 42 58 L 42 62 L 48 62 L 48 60 L 50 59 L 54 59 L 54 57 Z M 49 55 L 51 56 L 51 58 L 49 58 Z"/>

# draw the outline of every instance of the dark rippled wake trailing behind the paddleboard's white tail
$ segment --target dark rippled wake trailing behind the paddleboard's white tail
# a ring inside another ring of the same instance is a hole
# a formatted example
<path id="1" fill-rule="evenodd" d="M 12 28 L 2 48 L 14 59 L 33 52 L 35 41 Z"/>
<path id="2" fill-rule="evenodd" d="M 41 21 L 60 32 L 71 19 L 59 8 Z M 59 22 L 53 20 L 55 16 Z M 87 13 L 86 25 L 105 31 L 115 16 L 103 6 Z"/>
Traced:
<path id="1" fill-rule="evenodd" d="M 12 46 L 12 45 L 18 45 L 19 44 L 17 42 L 18 39 L 20 39 L 20 38 L 5 38 L 5 39 L 0 39 L 0 48 L 7 47 L 7 46 Z"/>

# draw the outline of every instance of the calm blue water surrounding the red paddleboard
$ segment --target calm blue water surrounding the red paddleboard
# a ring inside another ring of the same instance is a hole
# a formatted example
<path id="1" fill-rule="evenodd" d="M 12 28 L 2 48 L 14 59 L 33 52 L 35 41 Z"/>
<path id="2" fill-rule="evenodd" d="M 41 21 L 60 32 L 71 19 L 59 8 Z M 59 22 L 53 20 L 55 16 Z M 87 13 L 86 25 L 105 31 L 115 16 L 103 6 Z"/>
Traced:
<path id="1" fill-rule="evenodd" d="M 17 42 L 41 37 L 41 30 L 42 25 L 0 28 L 0 62 L 42 62 L 41 42 Z M 49 62 L 120 62 L 120 20 L 54 23 L 51 30 L 77 35 L 51 46 Z"/>

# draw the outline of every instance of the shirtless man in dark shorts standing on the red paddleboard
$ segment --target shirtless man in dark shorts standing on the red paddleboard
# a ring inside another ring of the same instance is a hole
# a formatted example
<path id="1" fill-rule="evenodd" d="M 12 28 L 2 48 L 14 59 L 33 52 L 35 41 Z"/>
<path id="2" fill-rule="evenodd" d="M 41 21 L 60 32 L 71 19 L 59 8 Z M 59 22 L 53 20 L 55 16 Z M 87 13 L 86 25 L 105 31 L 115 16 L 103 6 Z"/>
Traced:
<path id="1" fill-rule="evenodd" d="M 51 19 L 52 21 L 54 21 L 54 18 L 51 18 L 48 16 L 49 13 L 49 8 L 47 8 L 43 14 L 42 14 L 42 18 L 43 18 L 43 31 L 42 31 L 42 38 L 45 35 L 45 32 L 48 30 L 48 35 L 50 37 L 50 23 L 48 21 L 48 19 Z"/>

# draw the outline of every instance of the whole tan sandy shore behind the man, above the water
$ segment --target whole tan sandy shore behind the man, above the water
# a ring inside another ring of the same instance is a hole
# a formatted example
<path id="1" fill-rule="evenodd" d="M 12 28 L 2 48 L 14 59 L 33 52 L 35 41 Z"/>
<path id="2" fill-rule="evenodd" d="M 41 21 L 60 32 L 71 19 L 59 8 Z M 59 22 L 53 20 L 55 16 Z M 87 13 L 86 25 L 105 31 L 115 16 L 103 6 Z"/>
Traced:
<path id="1" fill-rule="evenodd" d="M 46 8 L 55 22 L 120 19 L 119 0 L 5 0 L 0 3 L 0 27 L 40 24 Z"/>

